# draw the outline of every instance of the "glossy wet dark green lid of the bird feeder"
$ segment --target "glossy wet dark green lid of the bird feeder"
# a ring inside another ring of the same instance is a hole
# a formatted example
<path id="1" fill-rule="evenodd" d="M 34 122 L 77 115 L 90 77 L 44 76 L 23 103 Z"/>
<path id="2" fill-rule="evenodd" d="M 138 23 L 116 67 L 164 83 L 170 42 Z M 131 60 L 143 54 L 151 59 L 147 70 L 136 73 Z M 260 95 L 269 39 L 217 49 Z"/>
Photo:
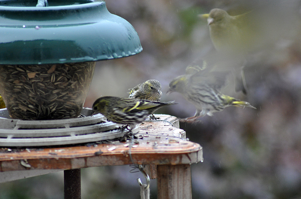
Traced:
<path id="1" fill-rule="evenodd" d="M 142 51 L 133 26 L 111 14 L 104 1 L 37 3 L 0 0 L 0 64 L 98 61 Z"/>

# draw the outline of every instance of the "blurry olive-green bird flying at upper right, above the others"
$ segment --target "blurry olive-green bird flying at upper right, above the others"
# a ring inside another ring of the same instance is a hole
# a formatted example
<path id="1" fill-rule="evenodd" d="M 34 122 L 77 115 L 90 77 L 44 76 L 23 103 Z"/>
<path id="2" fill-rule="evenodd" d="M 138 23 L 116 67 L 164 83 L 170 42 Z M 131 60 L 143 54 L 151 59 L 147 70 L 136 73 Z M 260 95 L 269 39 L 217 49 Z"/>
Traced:
<path id="1" fill-rule="evenodd" d="M 207 19 L 210 38 L 222 65 L 228 67 L 236 79 L 235 90 L 247 94 L 244 77 L 245 57 L 256 45 L 255 18 L 247 12 L 230 16 L 225 10 L 214 8 L 200 17 Z"/>

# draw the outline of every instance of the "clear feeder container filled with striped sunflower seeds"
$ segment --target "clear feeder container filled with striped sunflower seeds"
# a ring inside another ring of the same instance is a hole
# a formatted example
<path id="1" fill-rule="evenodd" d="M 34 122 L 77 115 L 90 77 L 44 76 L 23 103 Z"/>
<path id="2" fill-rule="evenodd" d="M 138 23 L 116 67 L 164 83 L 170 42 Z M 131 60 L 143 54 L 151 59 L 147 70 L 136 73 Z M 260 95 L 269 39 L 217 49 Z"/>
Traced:
<path id="1" fill-rule="evenodd" d="M 95 62 L 0 65 L 0 93 L 14 119 L 76 118 L 94 68 Z"/>

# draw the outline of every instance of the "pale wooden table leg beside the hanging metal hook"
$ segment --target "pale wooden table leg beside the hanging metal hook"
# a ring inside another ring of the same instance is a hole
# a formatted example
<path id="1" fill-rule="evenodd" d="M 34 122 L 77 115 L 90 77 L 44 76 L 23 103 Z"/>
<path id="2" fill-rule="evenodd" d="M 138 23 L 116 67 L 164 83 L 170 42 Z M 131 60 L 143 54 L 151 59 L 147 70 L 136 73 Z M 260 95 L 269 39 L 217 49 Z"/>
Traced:
<path id="1" fill-rule="evenodd" d="M 191 199 L 190 165 L 157 166 L 158 199 Z"/>

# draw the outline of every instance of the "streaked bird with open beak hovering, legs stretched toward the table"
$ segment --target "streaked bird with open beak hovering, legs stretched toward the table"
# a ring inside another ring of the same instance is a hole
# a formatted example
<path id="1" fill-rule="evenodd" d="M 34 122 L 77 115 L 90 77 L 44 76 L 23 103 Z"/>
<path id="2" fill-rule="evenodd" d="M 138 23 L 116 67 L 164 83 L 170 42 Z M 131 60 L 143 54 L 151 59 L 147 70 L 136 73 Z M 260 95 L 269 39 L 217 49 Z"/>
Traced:
<path id="1" fill-rule="evenodd" d="M 185 74 L 173 79 L 169 84 L 167 94 L 178 92 L 196 107 L 193 117 L 181 121 L 194 121 L 205 115 L 212 116 L 214 112 L 222 111 L 228 106 L 255 108 L 249 102 L 222 94 L 219 89 L 224 84 L 222 77 L 216 73 L 202 74 L 202 70 L 193 75 Z M 197 78 L 195 77 L 197 76 Z M 212 80 L 212 81 L 210 81 Z M 216 83 L 213 80 L 218 80 Z"/>

